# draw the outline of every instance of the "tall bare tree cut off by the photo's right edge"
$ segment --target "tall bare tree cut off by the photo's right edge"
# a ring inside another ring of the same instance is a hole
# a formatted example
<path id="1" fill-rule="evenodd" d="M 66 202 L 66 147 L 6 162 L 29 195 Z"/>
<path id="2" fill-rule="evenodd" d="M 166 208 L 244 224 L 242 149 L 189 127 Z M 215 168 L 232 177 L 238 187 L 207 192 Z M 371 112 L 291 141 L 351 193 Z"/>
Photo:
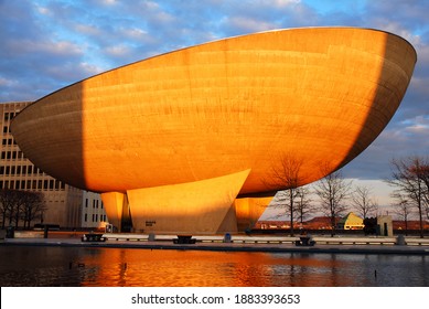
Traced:
<path id="1" fill-rule="evenodd" d="M 423 237 L 423 213 L 428 207 L 428 185 L 425 182 L 429 179 L 429 164 L 420 157 L 408 157 L 392 160 L 392 179 L 386 182 L 397 188 L 395 194 L 401 194 L 414 205 L 419 215 L 420 237 Z"/>

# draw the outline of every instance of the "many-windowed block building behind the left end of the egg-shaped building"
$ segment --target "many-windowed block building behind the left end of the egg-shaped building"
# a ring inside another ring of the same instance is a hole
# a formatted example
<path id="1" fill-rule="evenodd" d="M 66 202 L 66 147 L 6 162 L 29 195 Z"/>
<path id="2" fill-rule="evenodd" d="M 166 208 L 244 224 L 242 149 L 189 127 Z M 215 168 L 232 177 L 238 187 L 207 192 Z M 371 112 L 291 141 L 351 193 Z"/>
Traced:
<path id="1" fill-rule="evenodd" d="M 24 156 L 14 141 L 10 121 L 30 104 L 31 102 L 0 104 L 0 189 L 43 193 L 46 210 L 32 224 L 58 224 L 68 228 L 104 226 L 107 217 L 99 194 L 76 189 L 44 173 Z"/>

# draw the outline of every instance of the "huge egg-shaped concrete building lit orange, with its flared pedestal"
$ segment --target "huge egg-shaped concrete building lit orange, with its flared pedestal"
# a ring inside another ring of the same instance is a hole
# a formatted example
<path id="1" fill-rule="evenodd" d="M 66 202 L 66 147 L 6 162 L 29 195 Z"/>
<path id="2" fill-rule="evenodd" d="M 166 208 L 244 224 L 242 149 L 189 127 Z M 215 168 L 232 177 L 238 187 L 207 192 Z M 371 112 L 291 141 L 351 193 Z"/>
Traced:
<path id="1" fill-rule="evenodd" d="M 119 228 L 235 232 L 268 204 L 255 196 L 285 189 L 269 181 L 285 156 L 302 162 L 302 185 L 368 147 L 416 60 L 377 30 L 248 34 L 89 77 L 39 99 L 11 129 L 42 170 L 103 193 Z"/>

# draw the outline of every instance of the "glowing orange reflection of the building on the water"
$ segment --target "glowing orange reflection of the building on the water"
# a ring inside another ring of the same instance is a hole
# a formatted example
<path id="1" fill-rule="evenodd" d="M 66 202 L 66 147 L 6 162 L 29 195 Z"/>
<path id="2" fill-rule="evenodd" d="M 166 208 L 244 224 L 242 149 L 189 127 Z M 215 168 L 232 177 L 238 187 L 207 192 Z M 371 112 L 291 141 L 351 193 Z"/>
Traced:
<path id="1" fill-rule="evenodd" d="M 311 255 L 98 248 L 81 263 L 83 286 L 347 286 L 335 270 L 344 262 Z"/>

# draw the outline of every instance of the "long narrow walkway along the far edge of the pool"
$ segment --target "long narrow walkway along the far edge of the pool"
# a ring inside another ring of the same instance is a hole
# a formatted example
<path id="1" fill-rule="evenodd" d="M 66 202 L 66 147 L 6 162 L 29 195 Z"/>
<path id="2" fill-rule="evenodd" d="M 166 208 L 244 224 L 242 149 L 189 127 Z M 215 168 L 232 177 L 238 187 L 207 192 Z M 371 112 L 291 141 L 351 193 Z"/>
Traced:
<path id="1" fill-rule="evenodd" d="M 217 252 L 267 252 L 267 253 L 312 253 L 312 254 L 401 254 L 401 255 L 429 255 L 429 244 L 425 245 L 395 245 L 366 244 L 364 238 L 353 244 L 342 243 L 318 243 L 321 237 L 314 237 L 314 246 L 296 246 L 292 242 L 275 242 L 269 236 L 242 236 L 242 242 L 208 242 L 208 236 L 200 238 L 195 236 L 195 244 L 174 244 L 174 235 L 159 235 L 154 239 L 127 241 L 127 238 L 111 239 L 106 242 L 82 242 L 79 237 L 68 238 L 6 238 L 0 241 L 0 246 L 64 246 L 64 247 L 104 247 L 104 248 L 141 248 L 141 249 L 186 249 L 186 251 L 217 251 Z M 247 237 L 247 238 L 246 238 Z M 199 241 L 200 238 L 200 241 Z M 250 238 L 253 242 L 250 242 Z M 281 238 L 281 237 L 280 237 Z M 285 237 L 287 238 L 287 237 Z M 344 237 L 343 239 L 345 239 Z M 356 237 L 355 237 L 356 238 Z M 202 241 L 205 239 L 205 241 Z M 233 237 L 234 239 L 234 237 Z"/>

